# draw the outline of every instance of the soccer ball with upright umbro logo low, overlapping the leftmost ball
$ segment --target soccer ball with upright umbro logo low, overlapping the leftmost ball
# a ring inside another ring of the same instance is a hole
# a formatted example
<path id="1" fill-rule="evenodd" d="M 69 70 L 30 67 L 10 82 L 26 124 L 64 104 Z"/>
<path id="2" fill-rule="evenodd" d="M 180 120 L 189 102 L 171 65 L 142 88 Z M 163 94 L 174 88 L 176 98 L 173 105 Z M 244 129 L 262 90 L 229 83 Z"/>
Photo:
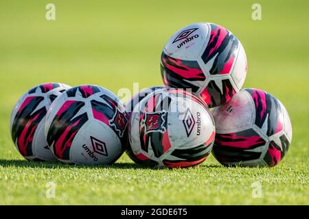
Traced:
<path id="1" fill-rule="evenodd" d="M 128 114 L 115 94 L 99 86 L 64 92 L 47 112 L 45 135 L 67 164 L 113 164 L 124 152 Z"/>

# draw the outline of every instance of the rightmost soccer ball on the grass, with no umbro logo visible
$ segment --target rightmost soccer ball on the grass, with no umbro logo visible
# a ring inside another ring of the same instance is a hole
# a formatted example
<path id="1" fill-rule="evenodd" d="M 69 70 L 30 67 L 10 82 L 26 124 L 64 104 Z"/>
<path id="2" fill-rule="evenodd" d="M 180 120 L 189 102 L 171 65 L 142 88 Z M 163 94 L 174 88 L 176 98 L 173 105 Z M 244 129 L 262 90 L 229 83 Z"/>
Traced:
<path id="1" fill-rule="evenodd" d="M 263 90 L 244 89 L 212 112 L 216 123 L 213 154 L 224 165 L 275 166 L 292 140 L 282 103 Z"/>

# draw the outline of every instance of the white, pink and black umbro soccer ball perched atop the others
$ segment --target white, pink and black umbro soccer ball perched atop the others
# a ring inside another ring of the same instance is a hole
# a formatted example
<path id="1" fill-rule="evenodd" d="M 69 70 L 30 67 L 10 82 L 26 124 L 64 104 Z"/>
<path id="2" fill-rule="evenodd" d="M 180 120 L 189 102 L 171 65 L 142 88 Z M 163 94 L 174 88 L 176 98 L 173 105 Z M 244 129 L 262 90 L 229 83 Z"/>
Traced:
<path id="1" fill-rule="evenodd" d="M 213 23 L 195 23 L 177 31 L 161 55 L 165 86 L 189 88 L 209 107 L 238 92 L 247 75 L 247 57 L 230 31 Z"/>

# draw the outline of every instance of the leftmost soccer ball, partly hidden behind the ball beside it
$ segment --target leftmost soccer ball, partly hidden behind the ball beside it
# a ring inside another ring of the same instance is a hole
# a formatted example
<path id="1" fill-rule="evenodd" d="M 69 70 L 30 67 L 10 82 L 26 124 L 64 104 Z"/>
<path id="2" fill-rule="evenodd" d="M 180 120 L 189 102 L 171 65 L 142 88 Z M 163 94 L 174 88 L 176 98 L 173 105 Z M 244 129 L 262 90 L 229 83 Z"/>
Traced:
<path id="1" fill-rule="evenodd" d="M 70 86 L 43 83 L 23 94 L 16 103 L 10 120 L 12 140 L 28 160 L 56 160 L 44 136 L 44 120 L 49 105 Z"/>

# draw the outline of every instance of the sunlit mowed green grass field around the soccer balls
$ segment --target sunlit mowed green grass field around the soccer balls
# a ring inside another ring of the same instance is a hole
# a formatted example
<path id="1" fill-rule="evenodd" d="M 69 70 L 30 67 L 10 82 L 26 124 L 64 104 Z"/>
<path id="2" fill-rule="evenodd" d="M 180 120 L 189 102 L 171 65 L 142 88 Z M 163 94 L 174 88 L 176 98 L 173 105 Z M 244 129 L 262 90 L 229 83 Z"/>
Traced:
<path id="1" fill-rule="evenodd" d="M 45 5 L 56 5 L 56 21 Z M 308 1 L 4 1 L 0 0 L 1 205 L 308 205 Z M 161 85 L 161 49 L 190 23 L 218 23 L 247 52 L 244 88 L 260 88 L 286 106 L 293 142 L 275 168 L 225 168 L 210 156 L 197 168 L 154 170 L 123 155 L 112 166 L 27 162 L 14 148 L 14 103 L 38 83 L 92 83 L 117 94 Z M 56 185 L 47 198 L 47 182 Z M 262 185 L 254 198 L 251 185 Z"/>

